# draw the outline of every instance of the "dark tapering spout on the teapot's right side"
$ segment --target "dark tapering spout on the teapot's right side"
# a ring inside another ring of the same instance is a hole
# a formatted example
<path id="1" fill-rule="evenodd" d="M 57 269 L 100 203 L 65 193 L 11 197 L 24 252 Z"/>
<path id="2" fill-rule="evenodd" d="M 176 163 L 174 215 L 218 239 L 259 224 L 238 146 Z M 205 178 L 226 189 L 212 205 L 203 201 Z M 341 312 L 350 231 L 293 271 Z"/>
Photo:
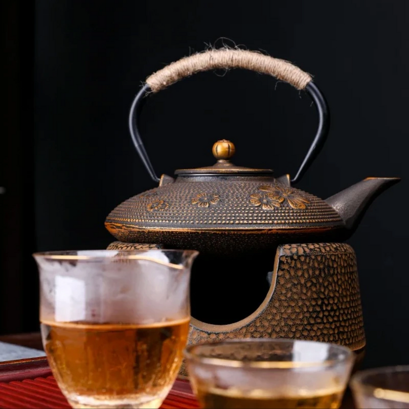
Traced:
<path id="1" fill-rule="evenodd" d="M 348 230 L 354 231 L 369 205 L 400 178 L 366 178 L 325 201 L 341 216 Z"/>

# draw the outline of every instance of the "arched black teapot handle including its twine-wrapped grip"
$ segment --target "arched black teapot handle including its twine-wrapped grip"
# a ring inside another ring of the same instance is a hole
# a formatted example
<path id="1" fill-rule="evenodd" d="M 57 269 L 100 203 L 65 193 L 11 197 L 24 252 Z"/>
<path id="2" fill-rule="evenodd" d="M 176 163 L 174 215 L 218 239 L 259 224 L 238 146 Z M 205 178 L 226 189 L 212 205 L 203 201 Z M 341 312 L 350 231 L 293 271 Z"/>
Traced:
<path id="1" fill-rule="evenodd" d="M 143 103 L 146 100 L 144 98 L 145 95 L 149 92 L 158 92 L 183 78 L 198 73 L 199 71 L 207 71 L 217 68 L 250 69 L 285 81 L 299 90 L 304 89 L 308 93 L 315 104 L 319 116 L 319 124 L 314 140 L 301 163 L 300 169 L 296 176 L 291 179 L 291 183 L 299 182 L 313 160 L 320 153 L 328 136 L 330 114 L 324 95 L 312 82 L 312 78 L 309 74 L 288 61 L 253 51 L 229 49 L 206 51 L 204 53 L 182 58 L 167 65 L 146 79 L 146 83 L 133 100 L 129 112 L 129 131 L 133 145 L 137 149 L 150 177 L 155 182 L 160 182 L 160 178 L 156 176 L 155 171 L 153 170 L 138 129 L 139 114 Z"/>

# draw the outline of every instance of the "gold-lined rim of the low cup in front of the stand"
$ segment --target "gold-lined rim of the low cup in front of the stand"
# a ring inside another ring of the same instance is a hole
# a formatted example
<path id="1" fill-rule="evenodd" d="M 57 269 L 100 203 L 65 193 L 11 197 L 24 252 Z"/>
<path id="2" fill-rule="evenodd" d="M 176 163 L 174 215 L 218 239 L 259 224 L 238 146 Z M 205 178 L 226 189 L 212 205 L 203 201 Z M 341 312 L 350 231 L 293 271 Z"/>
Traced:
<path id="1" fill-rule="evenodd" d="M 242 361 L 238 359 L 228 359 L 228 358 L 213 358 L 209 356 L 197 355 L 193 352 L 194 349 L 200 348 L 203 346 L 209 345 L 229 345 L 237 343 L 274 343 L 274 344 L 284 344 L 290 343 L 294 344 L 296 342 L 303 344 L 322 344 L 329 345 L 334 350 L 339 351 L 339 357 L 336 359 L 324 359 L 322 361 L 311 361 L 311 362 L 301 362 L 301 361 L 269 361 L 269 360 L 260 360 L 260 361 Z M 246 338 L 238 340 L 229 340 L 229 341 L 220 341 L 212 344 L 199 344 L 199 345 L 190 345 L 184 351 L 185 357 L 188 360 L 199 362 L 201 364 L 215 365 L 215 366 L 224 366 L 224 367 L 234 367 L 234 368 L 266 368 L 266 369 L 297 369 L 297 368 L 324 368 L 324 367 L 333 367 L 342 363 L 353 360 L 353 352 L 347 348 L 336 344 L 330 343 L 319 343 L 315 341 L 301 341 L 301 340 L 289 340 L 289 339 L 259 339 L 259 338 Z"/>

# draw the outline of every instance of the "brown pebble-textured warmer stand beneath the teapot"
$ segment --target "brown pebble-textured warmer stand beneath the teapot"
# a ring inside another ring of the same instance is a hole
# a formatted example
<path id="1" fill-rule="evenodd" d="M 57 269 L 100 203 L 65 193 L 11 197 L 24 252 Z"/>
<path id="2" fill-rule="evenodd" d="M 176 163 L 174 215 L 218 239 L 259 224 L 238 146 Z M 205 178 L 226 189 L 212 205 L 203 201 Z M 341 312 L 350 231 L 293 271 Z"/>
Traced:
<path id="1" fill-rule="evenodd" d="M 112 243 L 137 250 L 160 245 Z M 355 252 L 345 243 L 285 244 L 277 248 L 269 291 L 245 319 L 214 325 L 192 317 L 188 344 L 239 338 L 287 338 L 365 349 Z M 186 376 L 183 366 L 180 375 Z"/>

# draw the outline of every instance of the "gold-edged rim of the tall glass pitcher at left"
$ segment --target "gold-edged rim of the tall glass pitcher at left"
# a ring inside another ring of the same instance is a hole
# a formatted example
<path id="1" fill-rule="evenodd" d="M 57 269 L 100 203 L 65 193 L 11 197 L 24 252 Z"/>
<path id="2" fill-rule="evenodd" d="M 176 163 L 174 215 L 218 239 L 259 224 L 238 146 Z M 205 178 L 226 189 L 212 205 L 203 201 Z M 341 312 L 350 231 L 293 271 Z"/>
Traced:
<path id="1" fill-rule="evenodd" d="M 154 257 L 144 256 L 150 251 L 159 251 L 159 252 L 171 252 L 171 253 L 184 253 L 187 256 L 198 255 L 199 252 L 196 250 L 178 250 L 178 249 L 148 249 L 148 250 L 66 250 L 66 251 L 44 251 L 44 252 L 37 252 L 33 253 L 34 258 L 43 258 L 47 260 L 58 260 L 58 261 L 75 261 L 75 260 L 95 260 L 95 261 L 102 261 L 102 260 L 118 260 L 118 259 L 125 259 L 125 260 L 146 260 L 146 261 L 154 261 L 155 263 L 163 264 L 164 266 L 170 266 L 175 269 L 185 269 L 185 266 L 181 264 L 175 264 L 171 262 L 166 262 Z M 95 255 L 90 254 L 70 254 L 70 253 L 95 253 Z M 104 254 L 104 255 L 103 255 Z M 108 257 L 111 255 L 111 257 Z M 113 256 L 121 257 L 114 258 Z"/>

